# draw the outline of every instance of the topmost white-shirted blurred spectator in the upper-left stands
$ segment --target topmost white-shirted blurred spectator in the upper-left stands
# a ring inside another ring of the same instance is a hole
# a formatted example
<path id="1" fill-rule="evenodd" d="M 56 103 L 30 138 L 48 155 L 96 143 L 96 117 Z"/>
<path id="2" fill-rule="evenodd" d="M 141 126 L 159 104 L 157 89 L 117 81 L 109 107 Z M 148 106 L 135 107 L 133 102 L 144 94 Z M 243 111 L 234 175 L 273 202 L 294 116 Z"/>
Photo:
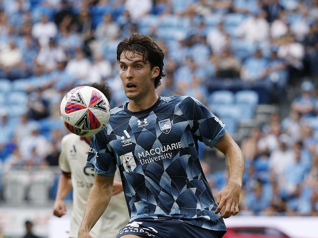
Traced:
<path id="1" fill-rule="evenodd" d="M 57 27 L 54 22 L 49 22 L 47 15 L 42 14 L 41 22 L 35 23 L 32 27 L 32 36 L 38 40 L 40 45 L 46 46 L 50 38 L 57 35 Z"/>

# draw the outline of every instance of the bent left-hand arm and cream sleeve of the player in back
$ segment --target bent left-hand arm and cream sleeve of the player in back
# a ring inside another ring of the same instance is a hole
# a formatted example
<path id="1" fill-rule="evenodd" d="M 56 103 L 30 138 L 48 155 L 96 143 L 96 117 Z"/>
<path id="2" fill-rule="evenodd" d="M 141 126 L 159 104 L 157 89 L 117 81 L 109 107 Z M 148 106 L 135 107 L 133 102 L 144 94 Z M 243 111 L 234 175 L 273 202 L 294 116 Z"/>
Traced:
<path id="1" fill-rule="evenodd" d="M 66 214 L 66 206 L 64 203 L 64 199 L 67 194 L 72 190 L 72 182 L 71 182 L 71 168 L 68 162 L 67 155 L 65 153 L 67 148 L 67 139 L 68 136 L 64 136 L 61 141 L 61 153 L 59 155 L 59 167 L 62 170 L 61 175 L 59 177 L 58 191 L 56 194 L 53 214 L 61 217 Z"/>

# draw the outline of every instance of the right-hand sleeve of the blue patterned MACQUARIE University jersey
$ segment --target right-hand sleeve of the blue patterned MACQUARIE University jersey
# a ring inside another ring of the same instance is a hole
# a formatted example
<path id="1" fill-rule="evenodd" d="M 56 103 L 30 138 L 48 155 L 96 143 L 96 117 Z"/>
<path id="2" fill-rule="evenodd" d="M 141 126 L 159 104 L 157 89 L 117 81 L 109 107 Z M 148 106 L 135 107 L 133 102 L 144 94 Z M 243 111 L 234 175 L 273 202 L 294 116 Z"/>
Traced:
<path id="1" fill-rule="evenodd" d="M 189 122 L 193 134 L 210 148 L 225 135 L 225 124 L 197 99 L 188 96 L 180 102 L 179 108 Z"/>

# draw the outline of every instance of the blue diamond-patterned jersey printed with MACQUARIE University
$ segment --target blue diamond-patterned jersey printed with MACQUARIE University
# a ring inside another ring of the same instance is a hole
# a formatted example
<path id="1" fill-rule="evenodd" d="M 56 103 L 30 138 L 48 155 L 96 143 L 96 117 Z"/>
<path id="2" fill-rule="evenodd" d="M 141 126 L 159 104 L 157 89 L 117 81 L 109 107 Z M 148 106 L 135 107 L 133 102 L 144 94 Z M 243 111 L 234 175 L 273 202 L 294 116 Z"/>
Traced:
<path id="1" fill-rule="evenodd" d="M 114 176 L 116 165 L 135 220 L 180 220 L 225 231 L 198 159 L 197 141 L 214 147 L 225 125 L 190 96 L 159 97 L 149 109 L 112 109 L 107 127 L 92 137 L 86 166 Z"/>

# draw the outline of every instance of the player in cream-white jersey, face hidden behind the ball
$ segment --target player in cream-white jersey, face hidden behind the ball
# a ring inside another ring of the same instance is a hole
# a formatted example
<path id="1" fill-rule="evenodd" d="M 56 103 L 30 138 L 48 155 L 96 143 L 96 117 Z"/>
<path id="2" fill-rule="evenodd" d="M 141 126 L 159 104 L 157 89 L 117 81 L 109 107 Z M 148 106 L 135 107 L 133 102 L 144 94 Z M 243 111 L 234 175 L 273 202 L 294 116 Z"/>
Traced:
<path id="1" fill-rule="evenodd" d="M 99 89 L 110 100 L 111 93 L 107 85 L 93 83 L 89 86 Z M 90 136 L 82 137 L 74 134 L 68 134 L 62 139 L 59 156 L 59 167 L 62 173 L 59 178 L 53 214 L 58 217 L 66 214 L 64 199 L 73 187 L 73 210 L 69 232 L 71 238 L 77 237 L 86 201 L 94 183 L 95 173 L 93 169 L 86 167 L 90 141 Z M 113 194 L 112 200 L 106 212 L 91 230 L 92 237 L 114 238 L 119 229 L 125 226 L 129 220 L 119 172 L 115 174 L 113 191 L 109 192 Z"/>

